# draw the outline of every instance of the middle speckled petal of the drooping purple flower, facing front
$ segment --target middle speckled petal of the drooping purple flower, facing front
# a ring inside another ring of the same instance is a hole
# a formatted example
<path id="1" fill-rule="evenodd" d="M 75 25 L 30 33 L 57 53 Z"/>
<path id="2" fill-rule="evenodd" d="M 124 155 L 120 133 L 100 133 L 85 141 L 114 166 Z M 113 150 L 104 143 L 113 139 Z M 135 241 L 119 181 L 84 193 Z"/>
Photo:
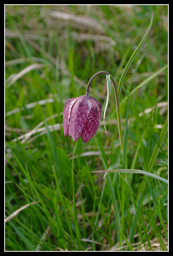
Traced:
<path id="1" fill-rule="evenodd" d="M 87 109 L 88 109 L 88 96 L 82 95 L 75 102 L 73 108 L 71 109 L 69 118 L 69 133 L 73 141 L 78 140 L 85 128 L 85 123 L 87 119 Z"/>

